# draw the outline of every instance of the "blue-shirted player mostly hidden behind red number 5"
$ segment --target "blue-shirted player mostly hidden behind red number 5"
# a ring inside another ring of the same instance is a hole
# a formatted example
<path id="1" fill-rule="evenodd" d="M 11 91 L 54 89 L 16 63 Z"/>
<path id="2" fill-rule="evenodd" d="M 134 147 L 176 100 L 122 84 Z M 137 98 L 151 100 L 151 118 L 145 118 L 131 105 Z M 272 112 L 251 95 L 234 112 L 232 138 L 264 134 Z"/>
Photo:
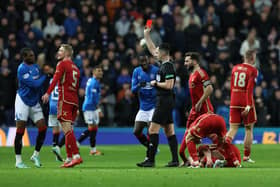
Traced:
<path id="1" fill-rule="evenodd" d="M 52 79 L 50 80 L 50 82 Z M 60 145 L 59 145 L 59 135 L 60 135 L 60 122 L 57 119 L 57 101 L 58 101 L 58 86 L 56 85 L 52 91 L 49 99 L 49 120 L 48 125 L 52 127 L 53 130 L 53 147 L 52 152 L 56 155 L 56 160 L 63 162 Z"/>

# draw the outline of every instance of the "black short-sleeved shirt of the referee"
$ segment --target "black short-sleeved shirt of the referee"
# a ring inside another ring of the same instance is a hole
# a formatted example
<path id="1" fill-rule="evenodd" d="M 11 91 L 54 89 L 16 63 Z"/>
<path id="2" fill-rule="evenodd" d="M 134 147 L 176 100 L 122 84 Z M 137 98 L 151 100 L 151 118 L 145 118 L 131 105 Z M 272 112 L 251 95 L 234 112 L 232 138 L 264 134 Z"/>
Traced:
<path id="1" fill-rule="evenodd" d="M 159 67 L 159 71 L 157 73 L 156 80 L 157 80 L 157 82 L 165 82 L 165 80 L 169 80 L 169 79 L 174 79 L 174 84 L 175 84 L 176 71 L 175 71 L 175 67 L 171 61 L 165 61 Z M 174 87 L 174 84 L 173 84 L 173 87 Z M 163 89 L 163 88 L 159 88 L 159 87 L 156 87 L 156 88 L 157 88 L 158 96 L 174 94 L 173 89 L 167 90 L 167 89 Z"/>

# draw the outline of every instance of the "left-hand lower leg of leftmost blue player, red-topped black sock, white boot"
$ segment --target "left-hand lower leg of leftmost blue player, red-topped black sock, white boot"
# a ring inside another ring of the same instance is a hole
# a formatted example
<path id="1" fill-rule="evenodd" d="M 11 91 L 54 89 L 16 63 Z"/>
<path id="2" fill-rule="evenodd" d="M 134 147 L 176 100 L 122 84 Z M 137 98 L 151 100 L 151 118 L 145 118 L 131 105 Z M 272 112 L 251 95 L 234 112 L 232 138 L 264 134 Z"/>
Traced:
<path id="1" fill-rule="evenodd" d="M 25 121 L 17 121 L 16 122 L 16 137 L 15 137 L 15 142 L 14 142 L 14 149 L 15 149 L 15 154 L 16 154 L 16 168 L 29 168 L 26 166 L 21 157 L 21 150 L 22 150 L 22 137 L 24 135 L 25 131 Z"/>

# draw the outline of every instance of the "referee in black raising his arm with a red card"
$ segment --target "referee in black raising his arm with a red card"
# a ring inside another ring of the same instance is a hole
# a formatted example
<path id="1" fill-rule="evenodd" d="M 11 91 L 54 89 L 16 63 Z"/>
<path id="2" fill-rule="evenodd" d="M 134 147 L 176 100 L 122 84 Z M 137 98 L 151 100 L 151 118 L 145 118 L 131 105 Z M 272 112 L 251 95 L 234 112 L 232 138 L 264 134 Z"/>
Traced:
<path id="1" fill-rule="evenodd" d="M 161 65 L 159 67 L 156 80 L 151 81 L 151 86 L 154 86 L 157 89 L 157 97 L 155 111 L 149 127 L 149 158 L 144 162 L 138 163 L 137 166 L 155 166 L 155 154 L 159 143 L 159 130 L 160 127 L 163 127 L 165 135 L 168 139 L 170 151 L 172 153 L 172 160 L 166 165 L 166 167 L 177 167 L 179 165 L 177 153 L 178 142 L 172 119 L 172 110 L 174 106 L 173 87 L 176 78 L 175 68 L 173 63 L 170 61 L 169 45 L 163 43 L 156 48 L 150 38 L 150 31 L 150 28 L 145 28 L 144 30 L 146 45 L 150 53 L 161 62 Z"/>

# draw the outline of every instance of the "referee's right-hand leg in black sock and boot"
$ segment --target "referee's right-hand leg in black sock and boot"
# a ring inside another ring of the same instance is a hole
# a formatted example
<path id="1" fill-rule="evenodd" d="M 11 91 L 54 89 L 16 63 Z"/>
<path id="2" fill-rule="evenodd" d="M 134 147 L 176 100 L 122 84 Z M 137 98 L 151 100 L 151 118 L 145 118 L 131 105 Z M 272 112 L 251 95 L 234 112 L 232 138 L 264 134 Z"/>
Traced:
<path id="1" fill-rule="evenodd" d="M 167 126 L 164 126 L 164 132 L 168 139 L 169 148 L 172 154 L 172 160 L 166 165 L 166 167 L 177 167 L 179 166 L 178 141 L 174 131 L 174 124 L 171 123 Z"/>

